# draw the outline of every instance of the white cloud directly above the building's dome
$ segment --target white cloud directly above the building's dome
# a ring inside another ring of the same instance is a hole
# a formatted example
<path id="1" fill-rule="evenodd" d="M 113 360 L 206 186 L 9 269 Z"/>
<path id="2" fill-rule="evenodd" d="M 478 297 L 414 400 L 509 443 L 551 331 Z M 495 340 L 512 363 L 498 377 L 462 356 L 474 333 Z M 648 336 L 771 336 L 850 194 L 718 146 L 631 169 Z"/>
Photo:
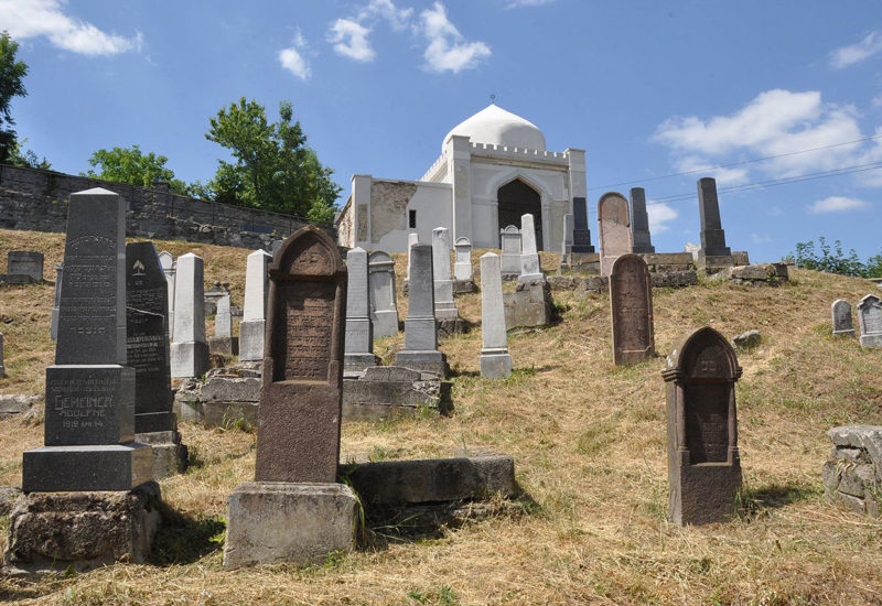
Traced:
<path id="1" fill-rule="evenodd" d="M 431 72 L 460 73 L 477 66 L 491 56 L 490 46 L 483 42 L 465 42 L 463 35 L 448 19 L 447 9 L 434 2 L 431 9 L 420 13 L 422 33 L 429 41 L 423 57 Z"/>

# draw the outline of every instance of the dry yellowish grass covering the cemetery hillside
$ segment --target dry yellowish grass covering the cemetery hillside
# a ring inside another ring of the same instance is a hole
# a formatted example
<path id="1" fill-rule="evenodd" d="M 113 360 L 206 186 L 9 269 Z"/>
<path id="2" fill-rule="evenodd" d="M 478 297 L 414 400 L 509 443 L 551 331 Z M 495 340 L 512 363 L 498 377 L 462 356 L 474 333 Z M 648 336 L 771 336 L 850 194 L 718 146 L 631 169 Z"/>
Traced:
<path id="1" fill-rule="evenodd" d="M 0 232 L 2 246 L 10 238 Z M 215 250 L 228 251 L 205 249 L 206 271 L 212 271 Z M 238 258 L 240 263 L 229 266 L 236 266 L 235 280 L 240 281 L 244 255 Z M 406 259 L 396 261 L 402 275 Z M 555 256 L 544 259 L 546 269 L 555 262 Z M 654 292 L 659 351 L 708 324 L 729 337 L 750 328 L 763 333 L 760 347 L 739 353 L 747 491 L 742 516 L 733 522 L 688 529 L 665 522 L 664 360 L 614 367 L 607 297 L 562 294 L 562 323 L 512 335 L 516 370 L 509 379 L 488 381 L 477 375 L 480 329 L 442 342 L 456 370 L 451 418 L 343 428 L 348 458 L 442 456 L 463 445 L 512 454 L 517 479 L 534 501 L 523 502 L 517 513 L 450 530 L 441 539 L 330 558 L 320 566 L 227 572 L 220 566 L 224 500 L 237 483 L 251 477 L 255 437 L 184 424 L 196 465 L 162 488 L 168 505 L 185 519 L 164 535 L 155 563 L 120 564 L 35 584 L 0 580 L 0 599 L 882 604 L 882 522 L 824 502 L 820 483 L 828 428 L 882 424 L 882 351 L 833 340 L 828 327 L 831 301 L 854 302 L 872 286 L 794 273 L 796 282 L 779 289 L 701 284 Z M 9 292 L 0 294 L 7 306 Z M 51 297 L 46 301 L 51 304 Z M 404 297 L 399 303 L 406 309 Z M 467 320 L 480 321 L 480 295 L 459 297 L 458 304 Z M 11 309 L 15 314 L 18 305 Z M 44 312 L 43 303 L 29 307 L 28 313 Z M 388 357 L 400 340 L 400 335 L 383 339 L 377 350 Z M 37 347 L 32 350 L 34 364 L 51 358 Z M 18 481 L 21 451 L 39 444 L 41 434 L 40 426 L 0 422 L 0 484 Z"/>

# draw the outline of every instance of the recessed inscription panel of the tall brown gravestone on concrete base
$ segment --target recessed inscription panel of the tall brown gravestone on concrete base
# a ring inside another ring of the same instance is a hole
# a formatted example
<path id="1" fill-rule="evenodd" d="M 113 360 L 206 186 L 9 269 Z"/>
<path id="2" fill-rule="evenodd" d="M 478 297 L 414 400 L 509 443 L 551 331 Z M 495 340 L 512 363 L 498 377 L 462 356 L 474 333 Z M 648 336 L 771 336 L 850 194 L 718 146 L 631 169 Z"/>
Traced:
<path id="1" fill-rule="evenodd" d="M 327 380 L 335 290 L 331 282 L 283 285 L 287 346 L 277 380 Z"/>

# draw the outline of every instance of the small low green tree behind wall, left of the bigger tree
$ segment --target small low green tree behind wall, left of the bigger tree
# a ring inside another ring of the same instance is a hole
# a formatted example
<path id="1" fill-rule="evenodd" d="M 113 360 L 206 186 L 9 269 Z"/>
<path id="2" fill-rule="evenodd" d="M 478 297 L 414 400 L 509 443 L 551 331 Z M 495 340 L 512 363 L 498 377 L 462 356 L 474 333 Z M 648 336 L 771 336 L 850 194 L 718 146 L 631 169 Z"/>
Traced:
<path id="1" fill-rule="evenodd" d="M 144 155 L 138 145 L 112 150 L 100 149 L 89 158 L 92 169 L 80 174 L 141 187 L 152 187 L 155 182 L 163 181 L 171 185 L 173 193 L 189 195 L 186 183 L 174 178 L 174 171 L 165 167 L 168 161 L 164 155 L 157 155 L 153 152 Z M 98 172 L 94 169 L 98 169 Z"/>

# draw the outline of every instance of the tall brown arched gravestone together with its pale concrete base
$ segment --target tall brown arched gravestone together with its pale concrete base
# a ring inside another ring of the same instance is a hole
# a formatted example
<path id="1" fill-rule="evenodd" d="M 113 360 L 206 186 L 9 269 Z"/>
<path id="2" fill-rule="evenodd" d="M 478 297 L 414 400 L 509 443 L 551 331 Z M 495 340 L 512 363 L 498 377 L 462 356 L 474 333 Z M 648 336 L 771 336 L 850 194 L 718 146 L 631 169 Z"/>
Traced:
<path id="1" fill-rule="evenodd" d="M 303 564 L 355 547 L 357 500 L 335 484 L 346 268 L 310 226 L 284 241 L 269 275 L 255 481 L 229 495 L 226 567 Z"/>

